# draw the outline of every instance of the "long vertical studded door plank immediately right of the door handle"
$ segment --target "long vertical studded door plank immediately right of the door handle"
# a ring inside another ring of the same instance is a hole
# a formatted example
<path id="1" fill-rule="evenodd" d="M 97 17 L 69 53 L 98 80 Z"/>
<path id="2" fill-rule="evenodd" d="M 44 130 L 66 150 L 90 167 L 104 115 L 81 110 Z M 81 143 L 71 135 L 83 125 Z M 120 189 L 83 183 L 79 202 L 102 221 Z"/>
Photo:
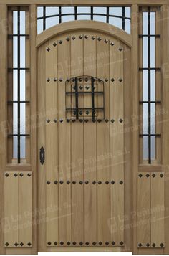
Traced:
<path id="1" fill-rule="evenodd" d="M 57 111 L 57 47 L 49 44 L 49 52 L 46 50 L 46 186 L 47 186 L 47 246 L 55 246 L 58 243 L 58 127 L 56 120 L 58 119 Z M 55 120 L 55 122 L 54 122 Z M 48 184 L 48 181 L 50 184 Z M 55 244 L 54 244 L 55 242 Z"/>

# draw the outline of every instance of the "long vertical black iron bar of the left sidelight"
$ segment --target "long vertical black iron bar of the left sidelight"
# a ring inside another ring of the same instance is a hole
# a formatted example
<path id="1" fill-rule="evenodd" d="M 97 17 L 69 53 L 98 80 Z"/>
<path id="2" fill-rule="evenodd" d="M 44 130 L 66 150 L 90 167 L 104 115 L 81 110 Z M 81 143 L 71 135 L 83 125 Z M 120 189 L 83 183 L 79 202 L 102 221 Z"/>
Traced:
<path id="1" fill-rule="evenodd" d="M 20 34 L 20 7 L 18 7 L 18 34 Z M 21 78 L 21 73 L 20 73 L 20 65 L 21 65 L 21 56 L 20 56 L 20 37 L 18 37 L 18 101 L 20 101 L 20 78 Z M 18 163 L 21 163 L 21 140 L 20 140 L 20 130 L 21 130 L 21 111 L 20 111 L 20 103 L 18 103 Z"/>

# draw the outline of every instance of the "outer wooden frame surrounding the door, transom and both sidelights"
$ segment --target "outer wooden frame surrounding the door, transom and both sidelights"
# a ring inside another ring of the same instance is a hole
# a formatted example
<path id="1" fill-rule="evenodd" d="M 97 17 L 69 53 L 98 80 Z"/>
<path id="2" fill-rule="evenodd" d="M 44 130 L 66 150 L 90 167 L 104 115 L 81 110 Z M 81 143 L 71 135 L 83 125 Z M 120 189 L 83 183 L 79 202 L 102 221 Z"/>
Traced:
<path id="1" fill-rule="evenodd" d="M 36 124 L 37 123 L 37 74 L 36 74 L 36 67 L 37 67 L 37 49 L 36 45 L 38 42 L 38 38 L 40 36 L 37 36 L 37 6 L 40 5 L 45 5 L 47 4 L 48 6 L 50 5 L 62 5 L 62 1 L 60 0 L 29 0 L 26 2 L 24 0 L 0 0 L 0 16 L 1 19 L 4 21 L 1 24 L 0 31 L 1 34 L 4 35 L 4 37 L 0 38 L 0 52 L 1 52 L 1 62 L 0 62 L 0 70 L 1 76 L 0 76 L 0 81 L 1 86 L 0 87 L 0 108 L 1 108 L 1 115 L 0 115 L 0 121 L 1 121 L 1 129 L 3 129 L 3 124 L 6 123 L 6 74 L 7 74 L 7 65 L 6 65 L 6 56 L 7 56 L 7 32 L 6 32 L 6 20 L 7 20 L 7 6 L 29 6 L 29 11 L 30 11 L 30 17 L 31 17 L 31 24 L 32 28 L 30 29 L 30 39 L 31 39 L 31 97 L 32 97 L 32 113 L 33 114 L 33 120 L 32 123 Z M 69 5 L 69 1 L 64 1 L 65 5 Z M 83 6 L 83 5 L 91 5 L 91 1 L 87 0 L 85 1 L 85 4 L 82 4 L 82 1 L 80 0 L 74 0 L 71 2 L 71 5 L 78 5 L 78 6 Z M 92 1 L 92 5 L 96 6 L 102 6 L 102 1 L 101 0 L 95 0 Z M 134 97 L 132 98 L 132 115 L 133 116 L 138 116 L 139 111 L 138 111 L 138 26 L 135 24 L 138 24 L 138 8 L 139 6 L 162 6 L 162 71 L 163 71 L 163 80 L 162 80 L 162 85 L 163 85 L 163 109 L 168 110 L 169 109 L 169 91 L 168 91 L 168 83 L 169 83 L 169 77 L 167 75 L 167 70 L 168 70 L 168 63 L 169 63 L 169 49 L 168 49 L 168 39 L 169 39 L 169 33 L 168 33 L 168 13 L 169 13 L 169 3 L 168 0 L 106 0 L 104 1 L 104 5 L 106 6 L 131 6 L 132 7 L 132 29 L 131 29 L 131 34 L 130 34 L 130 40 L 132 40 L 132 92 Z M 46 33 L 46 32 L 44 32 Z M 169 141 L 169 134 L 168 134 L 168 129 L 169 129 L 169 113 L 166 111 L 165 114 L 163 114 L 163 120 L 166 120 L 163 123 L 163 140 L 162 140 L 162 145 L 163 145 L 163 165 L 161 166 L 161 170 L 165 171 L 166 177 L 168 177 L 169 174 L 169 158 L 168 158 L 168 141 Z M 133 186 L 132 186 L 132 194 L 133 194 L 133 211 L 137 212 L 137 172 L 139 171 L 139 160 L 138 160 L 138 120 L 135 118 L 133 121 L 133 133 L 132 133 L 132 174 L 133 174 Z M 3 130 L 4 131 L 4 130 Z M 0 184 L 1 184 L 1 219 L 4 219 L 4 172 L 6 170 L 8 171 L 21 171 L 24 169 L 24 171 L 27 171 L 25 166 L 6 166 L 6 138 L 3 133 L 0 134 L 0 141 L 1 141 L 1 158 L 0 158 L 0 167 L 1 167 L 1 179 L 0 179 Z M 33 179 L 33 198 L 34 198 L 34 206 L 33 209 L 35 210 L 37 207 L 37 161 L 39 161 L 39 155 L 38 151 L 39 148 L 37 148 L 37 128 L 36 125 L 32 125 L 32 138 L 31 138 L 31 143 L 32 145 L 34 144 L 35 146 L 32 147 L 32 166 L 31 169 L 34 171 L 34 179 Z M 155 168 L 155 166 L 151 166 L 152 169 Z M 148 167 L 146 167 L 148 168 Z M 148 169 L 146 169 L 148 170 Z M 150 170 L 150 169 L 149 169 Z M 151 171 L 151 170 L 150 170 Z M 168 180 L 165 181 L 165 199 L 168 199 L 169 196 L 169 184 Z M 169 209 L 168 206 L 169 202 L 168 200 L 165 200 L 165 206 L 166 208 Z M 165 214 L 169 214 L 166 211 Z M 34 220 L 36 220 L 37 217 L 34 217 Z M 137 222 L 137 219 L 133 219 L 133 224 Z M 168 236 L 168 230 L 169 230 L 169 219 L 165 220 L 165 249 L 160 249 L 163 250 L 163 253 L 168 253 L 169 252 L 169 236 Z M 1 236 L 0 236 L 0 252 L 1 254 L 9 254 L 12 252 L 13 249 L 5 249 L 4 246 L 4 235 L 3 235 L 3 223 L 1 223 Z M 32 250 L 26 250 L 26 249 L 14 249 L 15 253 L 37 253 L 37 227 L 34 225 L 34 232 L 33 232 L 33 240 L 34 240 L 34 247 Z M 140 249 L 139 249 L 140 250 Z M 137 227 L 133 228 L 133 249 L 132 252 L 137 254 L 139 252 L 137 249 Z M 153 251 L 155 250 L 155 251 Z M 153 252 L 157 252 L 157 249 L 151 250 Z M 141 250 L 140 250 L 141 252 Z"/>

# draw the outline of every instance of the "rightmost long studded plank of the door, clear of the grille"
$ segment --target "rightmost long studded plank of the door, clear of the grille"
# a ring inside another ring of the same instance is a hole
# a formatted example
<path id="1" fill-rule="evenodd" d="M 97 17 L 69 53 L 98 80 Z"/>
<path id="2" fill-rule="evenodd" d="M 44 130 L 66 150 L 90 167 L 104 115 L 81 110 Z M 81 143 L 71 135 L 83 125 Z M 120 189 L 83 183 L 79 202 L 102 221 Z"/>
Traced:
<path id="1" fill-rule="evenodd" d="M 110 42 L 110 179 L 124 181 L 124 103 L 123 103 L 123 47 L 120 42 L 113 39 L 114 45 Z M 117 181 L 118 183 L 120 181 Z M 110 186 L 111 195 L 111 233 L 110 240 L 116 246 L 124 245 L 123 225 L 124 220 L 118 219 L 124 214 L 124 190 L 122 186 Z M 120 201 L 113 194 L 115 189 L 119 194 Z M 115 207 L 117 205 L 117 207 Z M 115 227 L 112 224 L 116 222 Z M 115 230 L 114 230 L 115 229 Z"/>

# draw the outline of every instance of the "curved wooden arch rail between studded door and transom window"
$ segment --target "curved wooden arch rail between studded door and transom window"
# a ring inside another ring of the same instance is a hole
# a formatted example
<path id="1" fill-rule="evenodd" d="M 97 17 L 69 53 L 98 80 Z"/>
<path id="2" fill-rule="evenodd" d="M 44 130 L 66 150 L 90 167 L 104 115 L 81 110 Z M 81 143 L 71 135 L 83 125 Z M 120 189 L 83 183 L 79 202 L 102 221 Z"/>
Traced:
<path id="1" fill-rule="evenodd" d="M 76 31 L 104 33 L 109 36 L 120 39 L 120 41 L 127 44 L 127 46 L 132 47 L 131 35 L 127 34 L 122 29 L 119 29 L 115 26 L 112 26 L 110 24 L 106 24 L 103 22 L 86 21 L 86 20 L 65 22 L 45 30 L 41 34 L 37 35 L 36 46 L 39 47 L 40 45 L 44 44 L 44 42 L 47 42 L 49 39 L 52 39 L 52 37 L 56 37 L 61 34 L 67 34 L 69 32 L 76 32 Z"/>

